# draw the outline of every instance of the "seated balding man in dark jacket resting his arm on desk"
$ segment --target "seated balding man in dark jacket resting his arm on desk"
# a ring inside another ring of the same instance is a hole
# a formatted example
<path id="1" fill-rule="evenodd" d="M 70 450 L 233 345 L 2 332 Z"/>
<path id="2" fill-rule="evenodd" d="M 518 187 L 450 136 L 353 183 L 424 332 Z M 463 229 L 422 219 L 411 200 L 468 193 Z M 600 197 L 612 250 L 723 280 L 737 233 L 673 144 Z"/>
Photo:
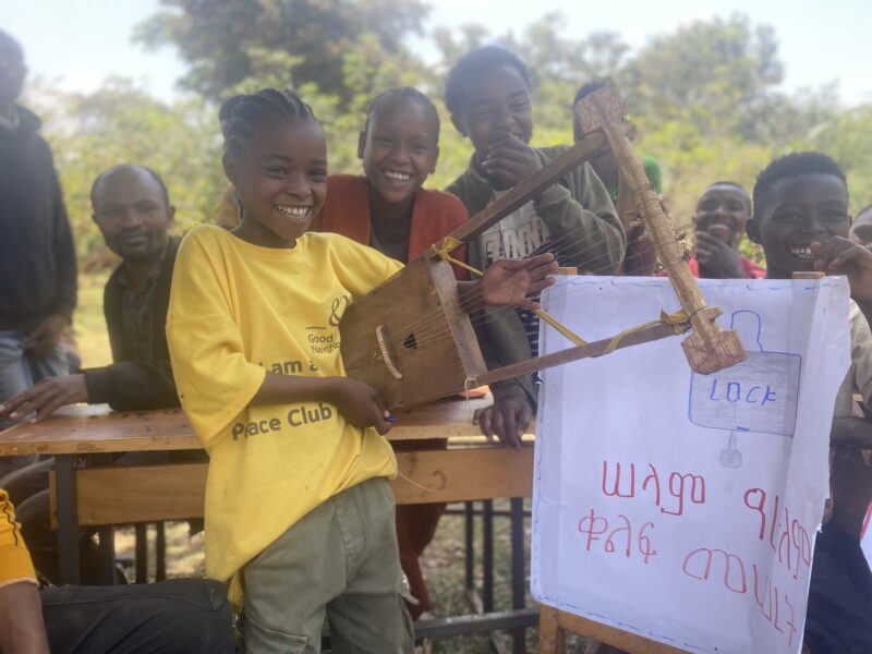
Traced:
<path id="1" fill-rule="evenodd" d="M 64 404 L 109 403 L 114 409 L 178 407 L 164 326 L 169 305 L 178 240 L 169 235 L 175 208 L 167 187 L 154 171 L 141 166 L 117 166 L 94 182 L 94 220 L 106 244 L 123 261 L 104 291 L 104 313 L 113 363 L 85 368 L 77 375 L 44 379 L 9 400 L 0 416 L 33 415 L 43 420 Z M 147 458 L 147 460 L 144 460 Z M 124 455 L 119 463 L 167 460 L 164 452 Z M 55 574 L 55 534 L 48 522 L 48 474 L 53 461 L 34 463 L 2 479 L 2 487 L 19 505 L 34 562 L 49 580 Z M 83 541 L 83 577 L 97 576 L 97 550 Z"/>

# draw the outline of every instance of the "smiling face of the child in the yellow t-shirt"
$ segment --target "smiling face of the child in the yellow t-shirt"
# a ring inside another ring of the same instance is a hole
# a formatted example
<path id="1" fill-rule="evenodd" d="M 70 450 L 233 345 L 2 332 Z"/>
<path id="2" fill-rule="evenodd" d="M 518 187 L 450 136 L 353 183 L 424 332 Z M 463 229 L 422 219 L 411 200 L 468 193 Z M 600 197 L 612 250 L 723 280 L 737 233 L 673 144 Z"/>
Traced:
<path id="1" fill-rule="evenodd" d="M 292 247 L 327 194 L 327 143 L 314 120 L 276 117 L 258 124 L 225 172 L 243 207 L 234 233 L 265 247 Z"/>

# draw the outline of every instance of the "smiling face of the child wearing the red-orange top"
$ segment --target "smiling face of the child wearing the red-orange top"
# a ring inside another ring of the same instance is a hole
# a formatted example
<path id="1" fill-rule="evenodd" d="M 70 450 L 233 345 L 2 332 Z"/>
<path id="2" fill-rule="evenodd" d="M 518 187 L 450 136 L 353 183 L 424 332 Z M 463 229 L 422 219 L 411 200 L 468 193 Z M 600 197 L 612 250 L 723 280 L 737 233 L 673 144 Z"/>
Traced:
<path id="1" fill-rule="evenodd" d="M 361 132 L 358 156 L 371 187 L 390 205 L 410 203 L 436 169 L 438 134 L 433 117 L 415 100 L 398 97 L 378 107 Z"/>

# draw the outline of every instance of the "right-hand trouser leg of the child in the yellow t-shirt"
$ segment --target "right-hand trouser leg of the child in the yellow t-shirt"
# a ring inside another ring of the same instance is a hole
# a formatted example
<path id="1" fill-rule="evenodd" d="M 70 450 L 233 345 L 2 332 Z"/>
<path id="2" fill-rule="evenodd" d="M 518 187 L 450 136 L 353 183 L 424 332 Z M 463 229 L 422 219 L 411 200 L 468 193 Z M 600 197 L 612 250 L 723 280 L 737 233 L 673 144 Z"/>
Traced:
<path id="1" fill-rule="evenodd" d="M 385 479 L 342 494 L 337 519 L 343 526 L 348 588 L 330 602 L 330 644 L 336 654 L 412 652 L 412 619 L 400 595 L 402 571 L 393 522 L 393 493 Z"/>

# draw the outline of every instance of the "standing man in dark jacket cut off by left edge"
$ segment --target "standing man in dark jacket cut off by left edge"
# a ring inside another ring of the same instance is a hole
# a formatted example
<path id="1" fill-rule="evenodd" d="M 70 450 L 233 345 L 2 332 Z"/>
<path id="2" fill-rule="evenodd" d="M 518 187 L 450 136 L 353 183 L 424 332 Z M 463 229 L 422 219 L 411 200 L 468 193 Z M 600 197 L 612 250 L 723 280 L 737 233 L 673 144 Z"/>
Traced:
<path id="1" fill-rule="evenodd" d="M 51 150 L 39 119 L 15 104 L 25 72 L 21 46 L 0 32 L 0 403 L 66 374 L 60 340 L 76 303 L 75 250 Z M 0 474 L 27 462 L 4 459 Z"/>

